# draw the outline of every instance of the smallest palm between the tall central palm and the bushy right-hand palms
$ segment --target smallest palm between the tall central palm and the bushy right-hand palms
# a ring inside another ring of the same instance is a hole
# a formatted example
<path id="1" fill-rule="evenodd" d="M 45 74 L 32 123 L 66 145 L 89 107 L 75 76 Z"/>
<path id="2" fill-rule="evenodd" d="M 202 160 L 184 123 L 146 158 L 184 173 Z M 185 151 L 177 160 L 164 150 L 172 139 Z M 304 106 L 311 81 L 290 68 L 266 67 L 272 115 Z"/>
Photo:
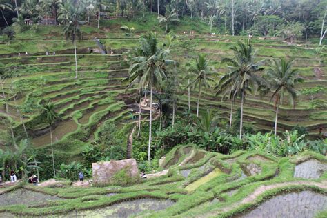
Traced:
<path id="1" fill-rule="evenodd" d="M 199 101 L 201 98 L 201 88 L 202 86 L 207 89 L 210 88 L 209 81 L 213 80 L 208 77 L 208 75 L 211 75 L 212 72 L 210 72 L 209 61 L 206 59 L 206 56 L 204 54 L 199 54 L 199 57 L 195 60 L 195 63 L 188 66 L 190 66 L 190 72 L 197 76 L 195 80 L 190 83 L 190 85 L 192 85 L 193 88 L 197 86 L 199 88 L 199 95 L 197 97 L 197 117 L 199 117 Z"/>

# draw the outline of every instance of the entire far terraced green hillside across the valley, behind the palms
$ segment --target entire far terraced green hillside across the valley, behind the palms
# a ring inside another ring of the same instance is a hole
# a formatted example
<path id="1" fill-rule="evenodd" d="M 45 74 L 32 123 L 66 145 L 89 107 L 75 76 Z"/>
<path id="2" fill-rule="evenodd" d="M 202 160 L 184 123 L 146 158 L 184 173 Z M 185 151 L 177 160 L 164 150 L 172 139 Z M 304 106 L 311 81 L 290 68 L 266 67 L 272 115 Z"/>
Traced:
<path id="1" fill-rule="evenodd" d="M 6 98 L 2 96 L 0 106 L 2 141 L 10 138 L 8 126 L 12 126 L 13 131 L 22 136 L 23 121 L 34 146 L 47 146 L 50 143 L 49 126 L 41 117 L 40 111 L 40 105 L 44 101 L 54 102 L 61 117 L 61 121 L 55 123 L 53 131 L 54 141 L 57 142 L 55 147 L 59 150 L 66 147 L 67 141 L 95 139 L 97 128 L 105 119 L 110 118 L 122 123 L 131 120 L 133 116 L 130 108 L 135 108 L 132 104 L 135 103 L 137 92 L 132 89 L 126 92 L 126 86 L 121 86 L 121 79 L 128 75 L 128 65 L 121 54 L 137 46 L 143 29 L 140 28 L 132 36 L 125 36 L 119 30 L 119 20 L 107 22 L 110 30 L 97 30 L 92 27 L 82 29 L 83 40 L 77 43 L 77 79 L 74 79 L 75 59 L 72 43 L 61 36 L 61 27 L 44 26 L 37 34 L 28 30 L 19 34 L 14 41 L 1 38 L 0 63 L 3 69 L 10 72 L 10 77 L 3 81 Z M 155 28 L 155 23 L 149 25 Z M 197 57 L 198 53 L 204 53 L 215 66 L 217 74 L 214 77 L 218 81 L 228 70 L 226 66 L 221 66 L 221 59 L 231 57 L 230 46 L 236 41 L 244 40 L 244 37 L 212 38 L 208 34 L 197 32 L 192 35 L 184 34 L 184 30 L 189 32 L 192 28 L 195 27 L 181 26 L 175 30 L 177 41 L 172 47 L 172 56 L 180 63 L 179 77 L 186 86 L 186 80 L 182 79 L 187 74 L 185 64 Z M 203 32 L 208 30 L 204 29 Z M 159 35 L 162 38 L 164 36 Z M 101 48 L 93 40 L 95 37 L 99 38 L 107 49 L 112 50 L 113 54 L 100 54 Z M 310 135 L 316 137 L 319 128 L 327 128 L 327 75 L 324 66 L 326 49 L 317 54 L 315 45 L 288 45 L 279 39 L 252 39 L 252 44 L 257 49 L 258 59 L 266 60 L 265 66 L 268 67 L 269 61 L 278 57 L 294 59 L 293 65 L 305 79 L 305 83 L 299 87 L 302 95 L 297 100 L 297 107 L 293 109 L 287 102 L 281 106 L 279 131 L 284 132 L 299 125 L 306 127 Z M 194 50 L 189 50 L 190 47 Z M 27 51 L 29 54 L 25 55 L 24 52 Z M 45 55 L 47 51 L 50 55 Z M 52 54 L 53 51 L 56 52 L 55 55 Z M 21 52 L 21 57 L 18 57 L 18 52 Z M 212 83 L 213 85 L 215 84 Z M 8 110 L 5 99 L 8 99 Z M 196 101 L 197 90 L 192 90 L 190 103 L 194 110 Z M 177 103 L 179 112 L 183 112 L 187 104 L 188 98 L 184 92 Z M 238 106 L 239 102 L 236 105 Z M 214 97 L 212 90 L 204 90 L 200 107 L 202 110 L 214 108 L 226 119 L 230 115 L 230 102 L 221 101 L 221 97 Z M 248 96 L 244 117 L 246 123 L 257 130 L 272 130 L 275 112 L 270 97 Z M 77 155 L 83 147 L 70 146 L 67 149 L 66 152 L 70 155 Z"/>

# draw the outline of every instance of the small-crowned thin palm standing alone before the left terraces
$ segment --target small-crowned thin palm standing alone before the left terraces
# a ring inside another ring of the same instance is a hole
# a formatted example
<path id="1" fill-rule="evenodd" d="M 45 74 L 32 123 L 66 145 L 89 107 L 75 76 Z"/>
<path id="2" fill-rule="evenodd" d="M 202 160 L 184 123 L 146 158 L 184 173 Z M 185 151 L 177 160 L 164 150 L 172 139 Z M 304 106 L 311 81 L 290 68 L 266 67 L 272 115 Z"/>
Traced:
<path id="1" fill-rule="evenodd" d="M 52 142 L 52 125 L 57 119 L 59 119 L 59 115 L 54 110 L 54 103 L 44 103 L 42 108 L 43 116 L 48 121 L 50 126 L 50 142 L 51 142 L 51 152 L 52 152 L 52 166 L 53 166 L 53 174 L 56 177 L 56 169 L 54 167 L 54 154 L 53 154 L 53 142 Z"/>

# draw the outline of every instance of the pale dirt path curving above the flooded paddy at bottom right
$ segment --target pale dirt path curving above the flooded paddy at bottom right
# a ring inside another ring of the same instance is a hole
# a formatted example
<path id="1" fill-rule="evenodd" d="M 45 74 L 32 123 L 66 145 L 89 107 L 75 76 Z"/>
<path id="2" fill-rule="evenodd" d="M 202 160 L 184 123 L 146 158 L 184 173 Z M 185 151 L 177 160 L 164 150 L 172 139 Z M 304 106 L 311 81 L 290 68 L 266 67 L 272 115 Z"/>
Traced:
<path id="1" fill-rule="evenodd" d="M 235 208 L 239 208 L 239 206 L 241 206 L 242 204 L 253 204 L 255 202 L 255 199 L 257 199 L 257 197 L 259 197 L 259 195 L 262 195 L 264 192 L 268 191 L 268 190 L 273 190 L 275 188 L 281 188 L 281 187 L 286 187 L 286 186 L 291 186 L 291 185 L 295 185 L 295 186 L 317 186 L 319 188 L 327 188 L 327 181 L 322 181 L 321 183 L 316 182 L 316 181 L 288 181 L 288 182 L 284 182 L 284 183 L 279 183 L 279 184 L 271 184 L 271 185 L 262 185 L 259 186 L 259 188 L 257 188 L 254 192 L 252 192 L 250 195 L 248 195 L 248 197 L 246 197 L 245 199 L 239 201 L 239 202 L 235 202 L 233 204 L 231 204 L 230 206 L 226 207 L 226 208 L 221 208 L 215 212 L 210 212 L 204 216 L 201 217 L 212 217 L 212 216 L 217 216 L 220 215 L 221 213 L 224 212 L 228 212 L 230 210 L 233 210 Z"/>

